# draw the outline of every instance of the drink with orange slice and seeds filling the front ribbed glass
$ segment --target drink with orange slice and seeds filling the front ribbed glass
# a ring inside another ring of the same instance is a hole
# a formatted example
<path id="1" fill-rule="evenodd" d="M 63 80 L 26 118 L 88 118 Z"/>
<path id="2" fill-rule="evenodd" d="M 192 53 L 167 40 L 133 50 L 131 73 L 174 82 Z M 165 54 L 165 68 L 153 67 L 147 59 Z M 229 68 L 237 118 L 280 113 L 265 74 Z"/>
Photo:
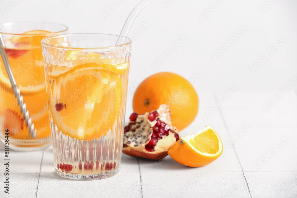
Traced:
<path id="1" fill-rule="evenodd" d="M 108 69 L 91 72 L 88 69 L 87 72 L 84 69 L 78 69 L 73 73 L 65 73 L 64 76 L 55 78 L 56 74 L 61 71 L 65 72 L 69 68 L 45 64 L 48 72 L 46 80 L 51 82 L 47 83 L 50 128 L 55 169 L 59 175 L 74 179 L 95 179 L 106 178 L 119 171 L 129 63 L 126 65 L 127 70 L 124 75 L 115 74 Z M 109 81 L 104 78 L 102 72 L 107 76 L 112 76 Z M 99 74 L 94 75 L 96 73 Z M 96 78 L 94 80 L 92 75 L 97 76 L 97 80 Z M 81 78 L 87 78 L 89 85 L 83 88 L 78 85 Z M 101 90 L 96 87 L 101 86 L 99 82 L 104 82 Z M 120 86 L 114 88 L 115 84 L 120 84 Z M 108 90 L 105 85 L 112 88 Z M 119 96 L 118 93 L 122 94 Z M 55 104 L 60 102 L 66 105 L 65 108 L 62 107 L 63 110 L 57 112 Z M 81 108 L 75 106 L 75 104 L 81 105 L 82 102 L 84 104 Z M 101 105 L 102 108 L 95 109 L 96 105 Z M 94 111 L 96 111 L 95 114 Z M 83 113 L 78 115 L 77 112 Z M 113 114 L 116 116 L 115 120 L 111 119 L 114 118 Z M 71 121 L 70 118 L 75 120 Z M 90 121 L 94 118 L 98 120 L 98 123 L 103 124 L 96 125 L 97 123 Z"/>

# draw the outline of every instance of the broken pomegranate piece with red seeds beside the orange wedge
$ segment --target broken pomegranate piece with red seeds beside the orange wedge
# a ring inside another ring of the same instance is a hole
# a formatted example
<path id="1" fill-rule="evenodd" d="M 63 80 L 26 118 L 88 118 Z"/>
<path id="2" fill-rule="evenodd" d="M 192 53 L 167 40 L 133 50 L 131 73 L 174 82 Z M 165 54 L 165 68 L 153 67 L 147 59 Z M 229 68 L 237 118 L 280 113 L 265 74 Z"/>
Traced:
<path id="1" fill-rule="evenodd" d="M 165 157 L 178 136 L 176 127 L 171 125 L 169 106 L 162 104 L 156 111 L 134 116 L 132 113 L 124 129 L 123 153 L 147 159 Z"/>

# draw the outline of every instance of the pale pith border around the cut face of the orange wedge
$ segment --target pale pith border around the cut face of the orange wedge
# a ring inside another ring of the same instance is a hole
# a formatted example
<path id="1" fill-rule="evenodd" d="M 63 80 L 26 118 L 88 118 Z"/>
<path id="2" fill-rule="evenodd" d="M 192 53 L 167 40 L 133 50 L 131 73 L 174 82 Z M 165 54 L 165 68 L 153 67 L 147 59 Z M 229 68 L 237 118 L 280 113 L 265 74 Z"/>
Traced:
<path id="1" fill-rule="evenodd" d="M 213 153 L 213 154 L 210 154 L 210 153 L 204 153 L 204 152 L 201 152 L 201 151 L 198 151 L 189 141 L 190 140 L 193 140 L 196 136 L 198 136 L 199 134 L 203 133 L 203 132 L 206 132 L 208 130 L 211 130 L 218 138 L 218 143 L 219 143 L 219 150 L 217 151 L 217 153 Z M 192 135 L 188 135 L 188 136 L 185 136 L 185 137 L 181 137 L 181 140 L 184 140 L 184 142 L 186 144 L 188 144 L 194 151 L 196 151 L 197 153 L 200 153 L 201 155 L 204 155 L 204 156 L 209 156 L 209 157 L 213 157 L 213 156 L 218 156 L 222 153 L 223 151 L 223 145 L 222 145 L 222 141 L 220 139 L 220 137 L 218 136 L 218 134 L 214 131 L 214 129 L 208 125 L 206 126 L 204 129 L 198 131 L 197 133 L 194 133 Z"/>

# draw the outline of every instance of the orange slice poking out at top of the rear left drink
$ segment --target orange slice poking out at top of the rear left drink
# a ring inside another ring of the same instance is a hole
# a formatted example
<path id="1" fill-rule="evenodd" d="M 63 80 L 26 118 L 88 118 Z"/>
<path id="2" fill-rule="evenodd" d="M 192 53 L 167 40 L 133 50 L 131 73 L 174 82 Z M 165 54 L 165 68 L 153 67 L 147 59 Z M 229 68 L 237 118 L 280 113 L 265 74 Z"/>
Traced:
<path id="1" fill-rule="evenodd" d="M 31 45 L 31 46 L 41 46 L 41 39 L 47 37 L 51 33 L 46 30 L 32 30 L 24 32 L 23 34 L 28 34 L 29 36 L 14 36 L 11 37 L 11 43 L 23 43 L 23 46 Z"/>

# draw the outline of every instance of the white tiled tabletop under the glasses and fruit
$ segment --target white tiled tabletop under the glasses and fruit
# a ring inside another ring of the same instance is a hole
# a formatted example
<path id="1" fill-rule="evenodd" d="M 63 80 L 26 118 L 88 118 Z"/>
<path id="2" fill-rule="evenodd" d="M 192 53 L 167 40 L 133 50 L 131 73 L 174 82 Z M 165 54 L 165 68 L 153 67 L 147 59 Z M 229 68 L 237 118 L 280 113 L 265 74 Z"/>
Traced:
<path id="1" fill-rule="evenodd" d="M 3 192 L 1 143 L 0 197 L 297 197 L 297 95 L 292 89 L 265 110 L 263 105 L 274 93 L 235 92 L 208 118 L 203 114 L 220 101 L 221 93 L 199 93 L 198 116 L 181 135 L 211 124 L 225 150 L 216 161 L 200 168 L 185 167 L 169 156 L 151 161 L 123 154 L 117 175 L 81 181 L 56 175 L 51 147 L 10 151 L 7 195 Z M 126 120 L 130 113 L 128 101 Z"/>

